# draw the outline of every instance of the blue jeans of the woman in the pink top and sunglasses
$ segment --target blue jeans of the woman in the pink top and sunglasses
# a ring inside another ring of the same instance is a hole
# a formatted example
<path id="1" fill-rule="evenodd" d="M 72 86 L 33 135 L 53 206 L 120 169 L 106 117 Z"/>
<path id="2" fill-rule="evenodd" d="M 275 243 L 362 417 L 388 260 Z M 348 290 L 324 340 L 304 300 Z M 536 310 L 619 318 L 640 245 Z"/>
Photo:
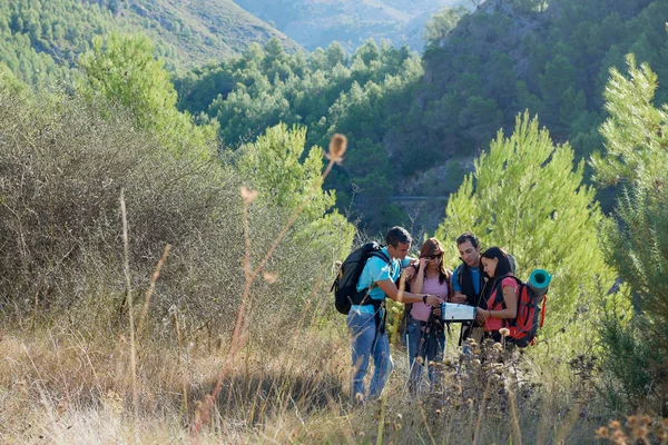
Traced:
<path id="1" fill-rule="evenodd" d="M 429 362 L 443 362 L 445 353 L 445 333 L 441 328 L 425 328 L 424 324 L 412 317 L 409 318 L 409 356 L 411 357 L 411 374 L 409 375 L 409 389 L 418 393 L 422 380 L 422 368 Z M 421 359 L 418 359 L 421 357 Z M 434 373 L 432 366 L 428 365 L 430 388 L 433 389 L 440 373 Z"/>

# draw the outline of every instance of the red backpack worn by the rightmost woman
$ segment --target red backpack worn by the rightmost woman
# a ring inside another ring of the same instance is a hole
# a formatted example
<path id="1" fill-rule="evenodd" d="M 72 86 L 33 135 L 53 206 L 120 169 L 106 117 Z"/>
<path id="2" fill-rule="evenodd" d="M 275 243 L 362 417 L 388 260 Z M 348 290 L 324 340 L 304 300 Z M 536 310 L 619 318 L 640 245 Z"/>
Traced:
<path id="1" fill-rule="evenodd" d="M 546 320 L 546 304 L 548 296 L 536 295 L 536 293 L 525 283 L 513 275 L 507 275 L 499 279 L 499 286 L 503 278 L 513 278 L 518 283 L 518 315 L 514 319 L 504 319 L 503 327 L 510 330 L 509 338 L 519 347 L 525 347 L 536 344 L 536 332 L 543 326 Z M 547 291 L 546 291 L 547 293 Z M 500 289 L 497 296 L 503 296 Z M 498 297 L 497 297 L 498 298 Z M 501 297 L 503 298 L 503 297 Z"/>

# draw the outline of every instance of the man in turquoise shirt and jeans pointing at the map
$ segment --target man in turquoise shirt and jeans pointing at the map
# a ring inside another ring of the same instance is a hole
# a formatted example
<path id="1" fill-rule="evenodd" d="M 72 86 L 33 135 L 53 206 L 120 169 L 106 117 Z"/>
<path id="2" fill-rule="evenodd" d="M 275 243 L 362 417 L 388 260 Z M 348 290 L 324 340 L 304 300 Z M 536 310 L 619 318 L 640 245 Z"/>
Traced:
<path id="1" fill-rule="evenodd" d="M 411 248 L 411 235 L 402 227 L 392 227 L 385 235 L 385 243 L 387 246 L 381 251 L 390 260 L 385 261 L 377 256 L 369 258 L 357 281 L 357 291 L 365 291 L 373 304 L 352 305 L 346 320 L 352 336 L 351 396 L 357 403 L 363 403 L 367 398 L 379 398 L 387 377 L 394 369 L 385 333 L 383 304 L 385 297 L 404 304 L 420 301 L 434 307 L 441 303 L 434 295 L 400 293 L 396 288 L 395 281 L 402 266 L 410 264 L 410 258 L 406 256 Z M 373 357 L 375 369 L 367 394 L 364 377 L 369 369 L 370 357 Z"/>

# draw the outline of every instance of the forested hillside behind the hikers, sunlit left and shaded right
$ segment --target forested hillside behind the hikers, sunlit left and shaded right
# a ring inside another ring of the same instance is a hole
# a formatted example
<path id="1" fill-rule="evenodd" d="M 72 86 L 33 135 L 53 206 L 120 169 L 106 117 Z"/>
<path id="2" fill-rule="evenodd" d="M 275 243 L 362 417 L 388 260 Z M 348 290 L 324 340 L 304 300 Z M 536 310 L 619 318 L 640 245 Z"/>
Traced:
<path id="1" fill-rule="evenodd" d="M 350 57 L 332 44 L 307 58 L 272 42 L 194 71 L 177 89 L 183 108 L 218 118 L 230 146 L 278 121 L 306 125 L 313 142 L 346 132 L 350 161 L 328 182 L 338 208 L 372 230 L 410 218 L 429 226 L 442 201 L 418 212 L 400 207 L 401 196 L 453 191 L 471 157 L 520 111 L 538 115 L 578 157 L 601 149 L 609 68 L 635 52 L 668 78 L 667 20 L 662 1 L 490 0 L 474 13 L 434 17 L 422 63 L 374 42 Z"/>

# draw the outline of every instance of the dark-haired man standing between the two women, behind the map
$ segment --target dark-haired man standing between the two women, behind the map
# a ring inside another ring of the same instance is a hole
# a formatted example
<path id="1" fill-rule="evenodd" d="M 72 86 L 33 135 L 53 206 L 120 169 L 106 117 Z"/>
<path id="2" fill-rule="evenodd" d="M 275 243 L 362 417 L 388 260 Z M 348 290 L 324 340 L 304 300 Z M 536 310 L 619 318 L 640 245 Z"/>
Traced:
<path id="1" fill-rule="evenodd" d="M 453 295 L 450 303 L 480 306 L 480 293 L 484 287 L 484 275 L 480 267 L 480 240 L 470 231 L 456 238 L 456 247 L 462 264 L 452 273 Z M 472 337 L 480 343 L 483 335 L 482 326 L 477 323 L 463 323 L 460 333 L 460 346 L 466 349 L 464 340 Z"/>

